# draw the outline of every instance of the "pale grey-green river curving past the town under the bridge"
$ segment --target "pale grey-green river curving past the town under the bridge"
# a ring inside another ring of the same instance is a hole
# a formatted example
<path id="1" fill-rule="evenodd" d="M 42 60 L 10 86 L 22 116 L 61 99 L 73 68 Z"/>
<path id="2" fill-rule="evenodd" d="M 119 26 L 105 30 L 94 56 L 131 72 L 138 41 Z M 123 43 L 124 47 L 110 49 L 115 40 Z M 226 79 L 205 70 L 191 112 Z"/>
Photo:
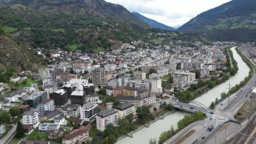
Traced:
<path id="1" fill-rule="evenodd" d="M 208 107 L 212 101 L 215 101 L 216 98 L 221 98 L 222 92 L 228 91 L 227 88 L 229 81 L 231 85 L 236 85 L 239 84 L 240 81 L 244 80 L 246 76 L 248 76 L 250 68 L 236 52 L 235 47 L 231 48 L 231 51 L 233 52 L 233 56 L 239 67 L 237 74 L 234 77 L 231 77 L 225 83 L 222 83 L 221 85 L 218 85 L 207 93 L 203 94 L 203 96 L 198 97 L 195 99 L 195 101 L 198 101 Z M 186 113 L 184 112 L 175 112 L 166 116 L 164 120 L 158 120 L 157 122 L 152 123 L 149 128 L 142 128 L 140 131 L 133 133 L 133 138 L 125 137 L 124 139 L 117 141 L 116 144 L 149 144 L 150 138 L 154 138 L 158 141 L 160 134 L 163 131 L 169 130 L 171 125 L 173 125 L 173 128 L 177 128 L 177 122 L 185 115 Z"/>

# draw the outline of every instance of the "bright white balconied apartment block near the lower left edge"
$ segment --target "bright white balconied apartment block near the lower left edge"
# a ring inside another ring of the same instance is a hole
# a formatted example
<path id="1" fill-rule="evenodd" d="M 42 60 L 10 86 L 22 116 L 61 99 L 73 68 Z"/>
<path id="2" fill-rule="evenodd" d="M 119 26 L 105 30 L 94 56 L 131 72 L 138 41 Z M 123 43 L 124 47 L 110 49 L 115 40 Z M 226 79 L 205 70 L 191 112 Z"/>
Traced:
<path id="1" fill-rule="evenodd" d="M 38 113 L 35 111 L 26 111 L 23 114 L 23 125 L 32 125 L 36 128 L 39 125 Z"/>

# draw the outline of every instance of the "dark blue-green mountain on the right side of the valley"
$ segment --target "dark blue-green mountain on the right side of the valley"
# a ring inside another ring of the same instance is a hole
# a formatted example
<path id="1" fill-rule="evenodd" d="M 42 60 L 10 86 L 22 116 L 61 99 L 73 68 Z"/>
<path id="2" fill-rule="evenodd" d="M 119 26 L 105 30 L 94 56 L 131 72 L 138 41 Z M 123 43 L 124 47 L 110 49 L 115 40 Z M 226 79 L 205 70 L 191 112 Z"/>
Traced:
<path id="1" fill-rule="evenodd" d="M 178 30 L 211 40 L 256 41 L 256 0 L 232 0 L 188 21 Z"/>

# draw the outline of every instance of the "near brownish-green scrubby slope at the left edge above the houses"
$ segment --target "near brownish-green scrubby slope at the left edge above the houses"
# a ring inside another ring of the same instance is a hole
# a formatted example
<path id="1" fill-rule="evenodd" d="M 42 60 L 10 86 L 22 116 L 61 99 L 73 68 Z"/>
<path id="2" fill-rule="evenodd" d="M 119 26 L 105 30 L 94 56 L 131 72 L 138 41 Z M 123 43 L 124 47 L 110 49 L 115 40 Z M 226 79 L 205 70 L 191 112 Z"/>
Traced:
<path id="1" fill-rule="evenodd" d="M 17 70 L 37 71 L 38 67 L 46 64 L 42 56 L 37 55 L 33 50 L 21 47 L 13 37 L 7 35 L 3 28 L 0 28 L 0 67 L 13 66 Z"/>

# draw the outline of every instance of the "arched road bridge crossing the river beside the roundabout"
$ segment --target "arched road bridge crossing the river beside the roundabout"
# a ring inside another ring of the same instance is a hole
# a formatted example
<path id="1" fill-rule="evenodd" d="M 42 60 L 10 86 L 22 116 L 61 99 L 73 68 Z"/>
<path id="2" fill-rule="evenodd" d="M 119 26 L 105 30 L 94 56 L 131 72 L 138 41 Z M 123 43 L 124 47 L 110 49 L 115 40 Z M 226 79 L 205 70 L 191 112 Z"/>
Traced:
<path id="1" fill-rule="evenodd" d="M 187 112 L 202 111 L 203 113 L 213 113 L 213 110 L 206 107 L 204 104 L 197 101 L 173 101 L 173 107 L 182 109 Z"/>

